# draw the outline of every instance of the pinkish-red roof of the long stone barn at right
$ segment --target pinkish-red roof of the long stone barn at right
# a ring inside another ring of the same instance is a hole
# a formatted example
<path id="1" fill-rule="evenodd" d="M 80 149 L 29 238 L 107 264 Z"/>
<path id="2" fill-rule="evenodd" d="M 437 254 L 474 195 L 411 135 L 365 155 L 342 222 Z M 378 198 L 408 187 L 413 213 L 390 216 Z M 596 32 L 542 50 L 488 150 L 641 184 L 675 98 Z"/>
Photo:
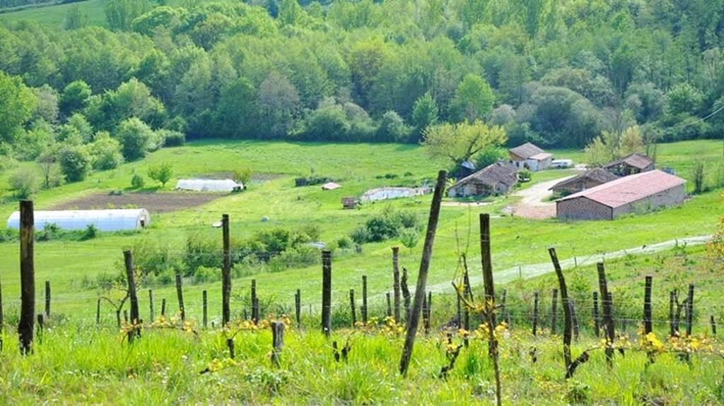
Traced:
<path id="1" fill-rule="evenodd" d="M 683 183 L 686 183 L 686 181 L 678 176 L 669 175 L 661 170 L 650 170 L 649 172 L 624 176 L 615 181 L 610 181 L 588 190 L 579 191 L 576 194 L 559 199 L 558 202 L 576 199 L 577 197 L 586 197 L 594 202 L 605 204 L 608 207 L 620 207 L 624 204 L 637 202 L 653 194 L 683 185 Z"/>

